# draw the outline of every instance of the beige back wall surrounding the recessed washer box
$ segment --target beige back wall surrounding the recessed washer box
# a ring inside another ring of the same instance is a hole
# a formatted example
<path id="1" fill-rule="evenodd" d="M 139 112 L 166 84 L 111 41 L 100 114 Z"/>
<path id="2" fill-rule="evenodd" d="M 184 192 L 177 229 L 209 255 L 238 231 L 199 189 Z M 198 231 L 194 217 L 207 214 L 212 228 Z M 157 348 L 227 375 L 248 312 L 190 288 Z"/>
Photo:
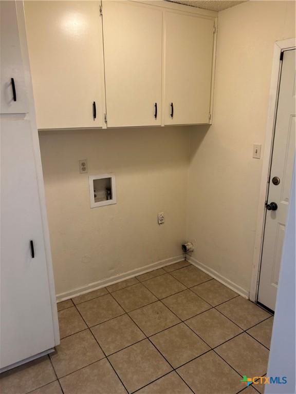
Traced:
<path id="1" fill-rule="evenodd" d="M 57 294 L 182 254 L 190 129 L 40 133 Z M 117 204 L 90 209 L 88 175 L 108 172 Z"/>

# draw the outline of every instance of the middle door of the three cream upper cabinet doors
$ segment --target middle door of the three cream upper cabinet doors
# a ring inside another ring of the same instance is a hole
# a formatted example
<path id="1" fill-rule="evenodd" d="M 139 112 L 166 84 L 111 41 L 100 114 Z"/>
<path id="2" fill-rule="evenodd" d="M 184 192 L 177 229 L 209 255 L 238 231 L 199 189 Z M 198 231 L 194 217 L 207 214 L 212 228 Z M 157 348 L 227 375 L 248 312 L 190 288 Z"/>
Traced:
<path id="1" fill-rule="evenodd" d="M 103 32 L 108 127 L 160 125 L 162 12 L 103 2 Z"/>

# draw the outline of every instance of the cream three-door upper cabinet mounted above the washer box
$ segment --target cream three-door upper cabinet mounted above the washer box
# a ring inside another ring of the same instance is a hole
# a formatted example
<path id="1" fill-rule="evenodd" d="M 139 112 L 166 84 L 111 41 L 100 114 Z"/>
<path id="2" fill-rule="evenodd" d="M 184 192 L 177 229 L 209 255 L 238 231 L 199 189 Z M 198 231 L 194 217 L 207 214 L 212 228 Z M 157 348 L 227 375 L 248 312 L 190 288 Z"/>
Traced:
<path id="1" fill-rule="evenodd" d="M 100 4 L 25 2 L 38 128 L 210 123 L 217 13 Z"/>

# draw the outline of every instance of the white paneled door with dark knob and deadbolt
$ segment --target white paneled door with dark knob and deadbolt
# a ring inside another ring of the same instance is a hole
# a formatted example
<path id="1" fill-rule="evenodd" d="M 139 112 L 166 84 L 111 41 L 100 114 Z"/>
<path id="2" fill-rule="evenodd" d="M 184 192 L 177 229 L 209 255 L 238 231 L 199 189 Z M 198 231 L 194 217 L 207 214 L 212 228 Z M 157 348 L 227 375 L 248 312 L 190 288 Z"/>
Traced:
<path id="1" fill-rule="evenodd" d="M 284 52 L 258 301 L 274 310 L 295 157 L 295 50 Z M 272 203 L 275 203 L 278 208 Z"/>

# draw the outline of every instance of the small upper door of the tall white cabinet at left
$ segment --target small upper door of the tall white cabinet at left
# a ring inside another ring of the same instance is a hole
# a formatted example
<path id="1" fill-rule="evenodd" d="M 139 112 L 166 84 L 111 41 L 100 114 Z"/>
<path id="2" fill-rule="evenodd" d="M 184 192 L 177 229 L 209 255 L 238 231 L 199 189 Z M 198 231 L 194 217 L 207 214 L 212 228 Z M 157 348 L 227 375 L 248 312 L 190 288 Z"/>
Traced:
<path id="1" fill-rule="evenodd" d="M 0 113 L 28 112 L 15 1 L 0 2 Z"/>

